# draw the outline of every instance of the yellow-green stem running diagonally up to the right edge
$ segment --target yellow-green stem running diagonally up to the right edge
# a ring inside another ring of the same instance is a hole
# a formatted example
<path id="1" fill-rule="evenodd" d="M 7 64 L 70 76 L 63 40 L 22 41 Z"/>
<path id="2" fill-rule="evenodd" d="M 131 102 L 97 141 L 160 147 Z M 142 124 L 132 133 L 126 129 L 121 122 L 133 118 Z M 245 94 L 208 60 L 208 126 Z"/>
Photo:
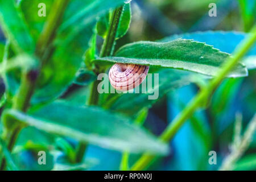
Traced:
<path id="1" fill-rule="evenodd" d="M 230 71 L 234 68 L 234 66 L 242 59 L 242 57 L 249 51 L 250 47 L 253 46 L 256 41 L 256 25 L 251 30 L 251 34 L 243 40 L 243 42 L 238 46 L 238 48 L 234 51 L 234 56 L 230 57 L 228 61 L 222 65 L 222 69 L 218 73 L 218 75 L 213 78 L 212 81 L 205 86 L 201 90 L 200 93 L 197 94 L 195 98 L 192 99 L 191 102 L 185 107 L 183 111 L 170 123 L 170 125 L 163 131 L 162 135 L 160 135 L 159 139 L 163 142 L 170 141 L 180 127 L 185 123 L 185 121 L 199 108 L 205 103 L 205 100 L 209 100 L 210 96 L 212 96 L 214 90 L 218 85 L 221 84 L 222 80 L 228 75 Z M 142 170 L 148 166 L 152 159 L 154 159 L 154 155 L 144 154 L 138 161 L 134 164 L 131 170 Z"/>

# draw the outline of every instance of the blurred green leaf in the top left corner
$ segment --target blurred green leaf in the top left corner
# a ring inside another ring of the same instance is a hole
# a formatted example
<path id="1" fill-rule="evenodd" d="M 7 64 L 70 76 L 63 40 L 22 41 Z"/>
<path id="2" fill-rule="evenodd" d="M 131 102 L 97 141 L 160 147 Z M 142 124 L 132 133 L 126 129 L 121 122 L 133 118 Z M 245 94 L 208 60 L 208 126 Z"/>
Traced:
<path id="1" fill-rule="evenodd" d="M 14 0 L 0 0 L 0 22 L 16 53 L 34 51 L 35 43 Z"/>

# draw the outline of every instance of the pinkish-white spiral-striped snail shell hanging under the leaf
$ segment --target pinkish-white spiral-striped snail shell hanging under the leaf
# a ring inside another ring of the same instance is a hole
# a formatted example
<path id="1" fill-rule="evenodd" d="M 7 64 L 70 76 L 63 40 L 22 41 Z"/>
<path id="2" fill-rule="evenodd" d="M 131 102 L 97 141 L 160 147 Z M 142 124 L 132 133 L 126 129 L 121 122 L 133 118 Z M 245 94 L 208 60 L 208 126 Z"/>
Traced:
<path id="1" fill-rule="evenodd" d="M 142 83 L 148 69 L 145 65 L 117 63 L 110 68 L 109 82 L 117 90 L 131 90 Z"/>

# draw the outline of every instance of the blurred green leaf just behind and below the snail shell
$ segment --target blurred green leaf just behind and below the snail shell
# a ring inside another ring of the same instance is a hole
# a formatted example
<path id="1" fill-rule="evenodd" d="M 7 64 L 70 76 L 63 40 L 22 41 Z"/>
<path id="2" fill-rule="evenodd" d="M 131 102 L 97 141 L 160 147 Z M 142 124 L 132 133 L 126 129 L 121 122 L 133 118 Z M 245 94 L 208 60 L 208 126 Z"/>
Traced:
<path id="1" fill-rule="evenodd" d="M 160 69 L 158 74 L 159 84 L 154 84 L 154 81 L 152 81 L 153 86 L 151 89 L 147 89 L 146 93 L 108 94 L 107 96 L 110 97 L 106 96 L 105 99 L 101 101 L 102 106 L 113 111 L 133 115 L 138 113 L 142 108 L 150 108 L 159 98 L 162 98 L 171 90 L 188 85 L 202 77 L 196 73 L 175 69 Z M 152 77 L 154 78 L 154 75 L 152 75 Z M 149 79 L 148 76 L 147 79 Z M 152 97 L 154 94 L 158 97 L 149 100 L 148 96 Z"/>

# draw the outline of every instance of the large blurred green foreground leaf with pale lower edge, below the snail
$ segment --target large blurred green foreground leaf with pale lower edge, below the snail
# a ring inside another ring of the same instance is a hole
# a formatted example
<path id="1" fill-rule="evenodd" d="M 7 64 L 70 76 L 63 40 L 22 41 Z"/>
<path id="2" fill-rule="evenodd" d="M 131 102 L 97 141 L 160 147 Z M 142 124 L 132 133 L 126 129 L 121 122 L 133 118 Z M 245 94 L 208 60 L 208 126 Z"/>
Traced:
<path id="1" fill-rule="evenodd" d="M 77 107 L 67 102 L 53 102 L 26 115 L 9 110 L 3 120 L 17 119 L 47 133 L 63 135 L 113 150 L 166 154 L 167 145 L 129 119 L 98 107 Z M 10 117 L 10 118 L 9 118 Z"/>

